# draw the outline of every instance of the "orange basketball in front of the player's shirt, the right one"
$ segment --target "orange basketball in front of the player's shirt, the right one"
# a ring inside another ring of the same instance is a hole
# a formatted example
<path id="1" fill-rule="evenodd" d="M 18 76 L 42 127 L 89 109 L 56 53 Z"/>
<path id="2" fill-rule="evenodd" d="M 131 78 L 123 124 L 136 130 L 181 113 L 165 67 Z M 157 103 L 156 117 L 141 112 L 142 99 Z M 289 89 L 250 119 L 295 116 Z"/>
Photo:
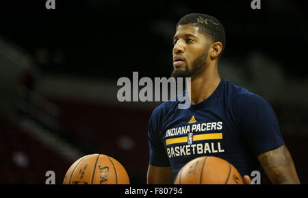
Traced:
<path id="1" fill-rule="evenodd" d="M 235 167 L 221 158 L 203 156 L 191 160 L 177 174 L 175 184 L 244 184 Z"/>

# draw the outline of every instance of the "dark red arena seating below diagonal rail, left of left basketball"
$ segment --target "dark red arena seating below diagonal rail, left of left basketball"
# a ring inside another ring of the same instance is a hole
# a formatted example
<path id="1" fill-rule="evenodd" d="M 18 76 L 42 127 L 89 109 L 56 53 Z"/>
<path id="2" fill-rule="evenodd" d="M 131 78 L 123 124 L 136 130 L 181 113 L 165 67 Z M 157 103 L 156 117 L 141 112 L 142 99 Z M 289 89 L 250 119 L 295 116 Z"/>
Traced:
<path id="1" fill-rule="evenodd" d="M 0 120 L 0 184 L 45 184 L 47 171 L 61 184 L 70 164 L 27 131 Z"/>

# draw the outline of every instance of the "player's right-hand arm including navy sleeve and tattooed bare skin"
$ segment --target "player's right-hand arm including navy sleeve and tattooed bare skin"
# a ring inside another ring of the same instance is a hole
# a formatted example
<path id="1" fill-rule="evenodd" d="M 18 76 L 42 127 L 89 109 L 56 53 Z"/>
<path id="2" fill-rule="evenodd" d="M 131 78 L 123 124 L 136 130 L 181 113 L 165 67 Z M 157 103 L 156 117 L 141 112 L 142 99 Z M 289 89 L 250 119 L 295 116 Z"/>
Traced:
<path id="1" fill-rule="evenodd" d="M 290 152 L 280 132 L 279 120 L 268 101 L 255 94 L 236 98 L 240 129 L 266 175 L 274 184 L 299 184 Z"/>

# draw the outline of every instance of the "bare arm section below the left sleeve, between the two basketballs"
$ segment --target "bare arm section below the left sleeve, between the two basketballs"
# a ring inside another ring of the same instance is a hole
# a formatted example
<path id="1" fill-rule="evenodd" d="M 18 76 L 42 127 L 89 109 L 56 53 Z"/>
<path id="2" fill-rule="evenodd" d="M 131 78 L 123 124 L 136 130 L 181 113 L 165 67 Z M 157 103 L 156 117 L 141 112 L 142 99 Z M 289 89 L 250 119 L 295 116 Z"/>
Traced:
<path id="1" fill-rule="evenodd" d="M 173 184 L 171 167 L 149 165 L 146 184 Z"/>

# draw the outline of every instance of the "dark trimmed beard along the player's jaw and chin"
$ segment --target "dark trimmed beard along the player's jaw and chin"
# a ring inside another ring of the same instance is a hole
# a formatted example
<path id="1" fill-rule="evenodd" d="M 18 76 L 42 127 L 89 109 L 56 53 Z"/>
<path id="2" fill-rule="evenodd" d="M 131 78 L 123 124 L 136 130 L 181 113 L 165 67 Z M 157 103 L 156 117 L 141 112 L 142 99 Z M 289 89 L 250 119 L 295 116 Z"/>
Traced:
<path id="1" fill-rule="evenodd" d="M 188 69 L 188 64 L 186 64 L 185 70 L 175 70 L 173 69 L 171 73 L 171 77 L 191 77 L 193 79 L 193 76 L 198 73 L 198 71 L 201 71 L 203 66 L 207 64 L 207 51 L 199 55 L 194 62 L 192 62 L 192 69 Z"/>

